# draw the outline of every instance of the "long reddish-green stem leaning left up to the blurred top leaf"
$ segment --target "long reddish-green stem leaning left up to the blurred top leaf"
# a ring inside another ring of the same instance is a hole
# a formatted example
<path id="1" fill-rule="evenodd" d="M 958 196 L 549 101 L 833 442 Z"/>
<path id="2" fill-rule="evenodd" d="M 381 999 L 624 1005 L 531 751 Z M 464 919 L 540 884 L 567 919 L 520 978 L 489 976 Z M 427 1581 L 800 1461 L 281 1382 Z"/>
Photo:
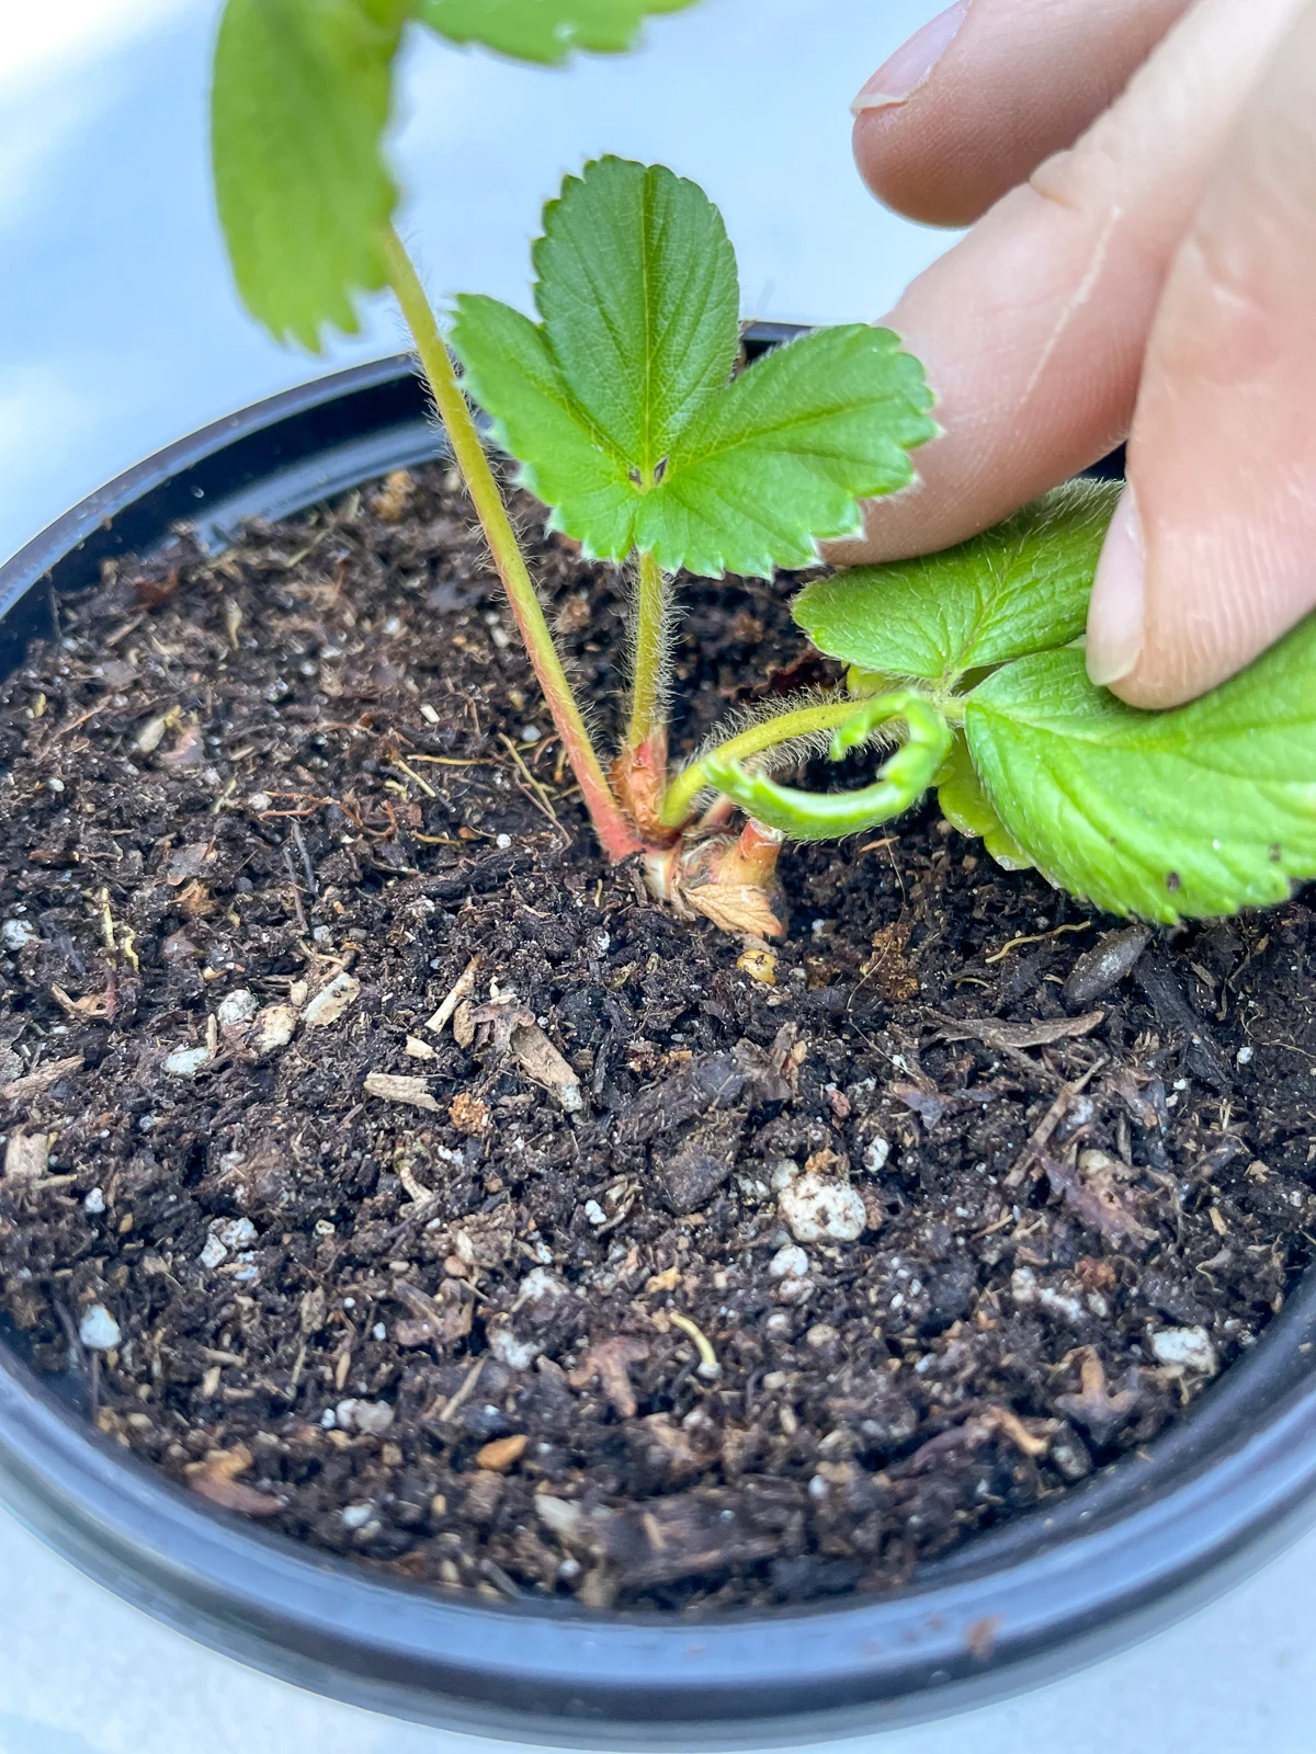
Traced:
<path id="1" fill-rule="evenodd" d="M 567 751 L 572 772 L 581 784 L 590 821 L 595 824 L 595 833 L 609 858 L 621 859 L 628 852 L 639 851 L 639 840 L 621 814 L 612 796 L 612 788 L 607 784 L 604 768 L 595 754 L 595 747 L 590 742 L 581 709 L 576 705 L 567 672 L 561 668 L 558 647 L 553 644 L 535 586 L 526 572 L 525 558 L 507 517 L 507 507 L 502 503 L 498 482 L 493 479 L 476 421 L 456 381 L 453 358 L 439 333 L 439 324 L 416 275 L 416 268 L 402 246 L 402 239 L 391 226 L 383 235 L 383 246 L 390 284 L 416 342 L 439 419 L 444 423 L 444 431 L 453 449 L 453 460 L 461 470 L 461 479 L 467 484 L 484 530 L 493 565 L 498 568 L 498 577 L 512 605 L 516 624 L 521 630 L 525 649 L 539 677 L 539 686 L 544 691 L 553 724 Z"/>

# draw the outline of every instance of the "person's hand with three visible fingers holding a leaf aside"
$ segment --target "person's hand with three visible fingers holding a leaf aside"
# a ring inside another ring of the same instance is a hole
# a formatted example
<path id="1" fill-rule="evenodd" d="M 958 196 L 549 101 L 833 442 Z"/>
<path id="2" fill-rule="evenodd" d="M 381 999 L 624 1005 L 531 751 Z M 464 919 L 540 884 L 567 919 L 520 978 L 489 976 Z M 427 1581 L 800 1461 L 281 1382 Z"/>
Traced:
<path id="1" fill-rule="evenodd" d="M 944 437 L 828 560 L 946 547 L 1128 433 L 1088 670 L 1221 682 L 1316 605 L 1316 0 L 960 0 L 855 109 L 876 195 L 977 223 L 886 319 Z"/>

